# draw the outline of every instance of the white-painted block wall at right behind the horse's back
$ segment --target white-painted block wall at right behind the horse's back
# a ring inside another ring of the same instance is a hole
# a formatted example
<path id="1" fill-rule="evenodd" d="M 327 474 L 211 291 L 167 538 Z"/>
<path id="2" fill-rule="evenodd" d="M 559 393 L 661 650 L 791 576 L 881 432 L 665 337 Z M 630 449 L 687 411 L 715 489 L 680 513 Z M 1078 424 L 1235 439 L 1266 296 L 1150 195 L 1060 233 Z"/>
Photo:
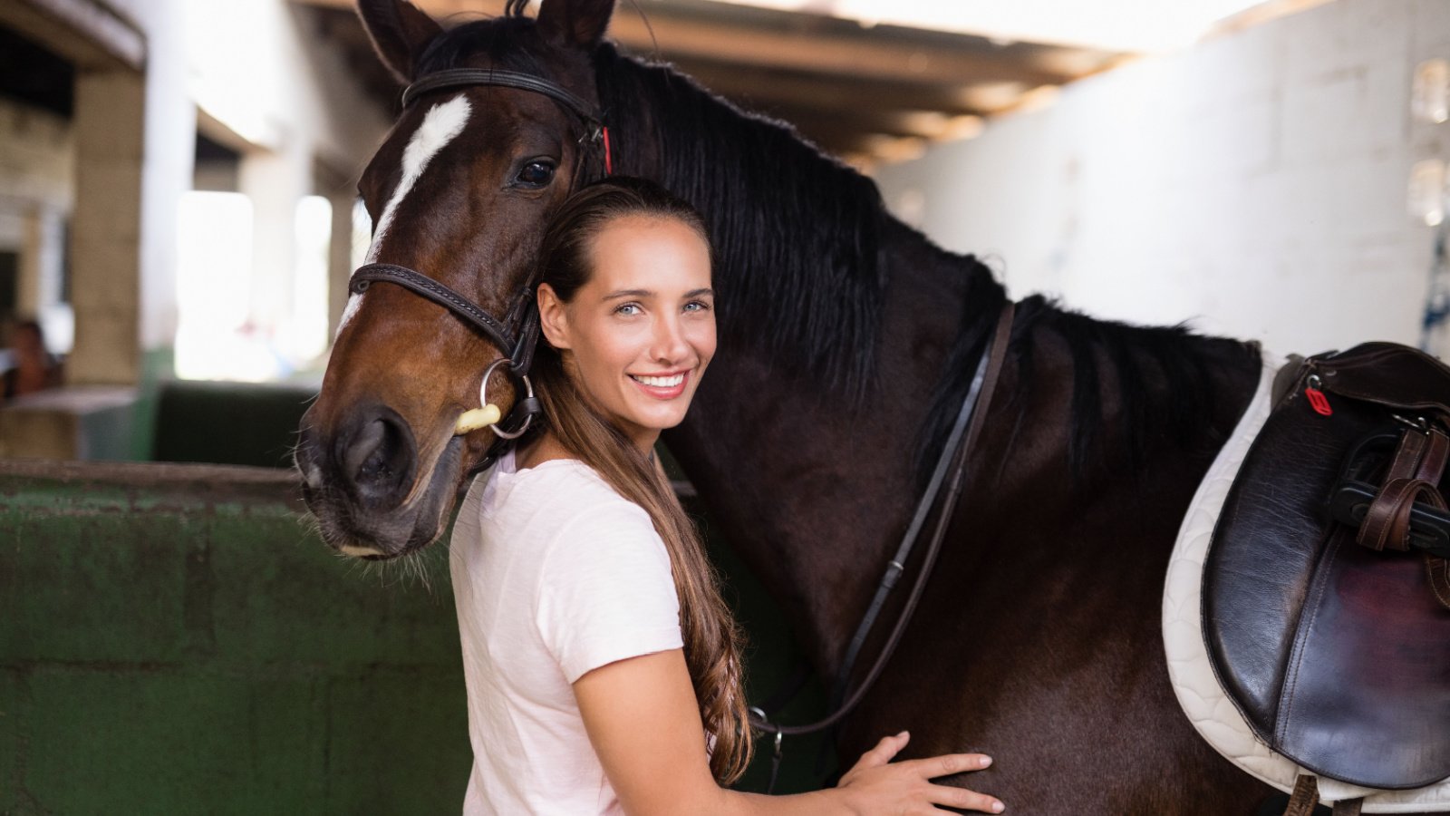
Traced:
<path id="1" fill-rule="evenodd" d="M 1406 184 L 1450 155 L 1450 125 L 1409 113 L 1433 57 L 1450 3 L 1337 0 L 1079 81 L 879 180 L 1014 296 L 1279 351 L 1414 344 L 1434 231 Z"/>

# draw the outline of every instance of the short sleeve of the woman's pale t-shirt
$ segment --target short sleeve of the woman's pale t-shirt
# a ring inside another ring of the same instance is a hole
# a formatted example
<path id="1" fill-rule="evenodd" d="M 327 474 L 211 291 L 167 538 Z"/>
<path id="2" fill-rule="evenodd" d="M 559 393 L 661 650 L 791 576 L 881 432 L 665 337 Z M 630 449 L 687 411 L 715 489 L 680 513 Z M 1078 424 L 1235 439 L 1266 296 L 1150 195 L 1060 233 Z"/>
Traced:
<path id="1" fill-rule="evenodd" d="M 634 504 L 580 513 L 544 558 L 535 620 L 573 684 L 602 665 L 683 646 L 670 555 Z"/>

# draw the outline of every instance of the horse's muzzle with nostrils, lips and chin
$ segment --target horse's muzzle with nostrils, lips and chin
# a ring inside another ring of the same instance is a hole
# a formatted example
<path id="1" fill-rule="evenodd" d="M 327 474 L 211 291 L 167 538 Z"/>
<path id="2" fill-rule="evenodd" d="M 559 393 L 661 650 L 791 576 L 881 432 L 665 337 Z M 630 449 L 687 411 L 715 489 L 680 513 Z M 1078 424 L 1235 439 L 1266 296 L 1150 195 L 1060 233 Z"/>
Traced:
<path id="1" fill-rule="evenodd" d="M 303 417 L 296 463 L 302 495 L 334 549 L 390 559 L 442 533 L 463 463 L 452 437 L 426 473 L 407 423 L 384 405 L 351 411 L 331 433 Z M 425 484 L 419 484 L 419 481 Z"/>

